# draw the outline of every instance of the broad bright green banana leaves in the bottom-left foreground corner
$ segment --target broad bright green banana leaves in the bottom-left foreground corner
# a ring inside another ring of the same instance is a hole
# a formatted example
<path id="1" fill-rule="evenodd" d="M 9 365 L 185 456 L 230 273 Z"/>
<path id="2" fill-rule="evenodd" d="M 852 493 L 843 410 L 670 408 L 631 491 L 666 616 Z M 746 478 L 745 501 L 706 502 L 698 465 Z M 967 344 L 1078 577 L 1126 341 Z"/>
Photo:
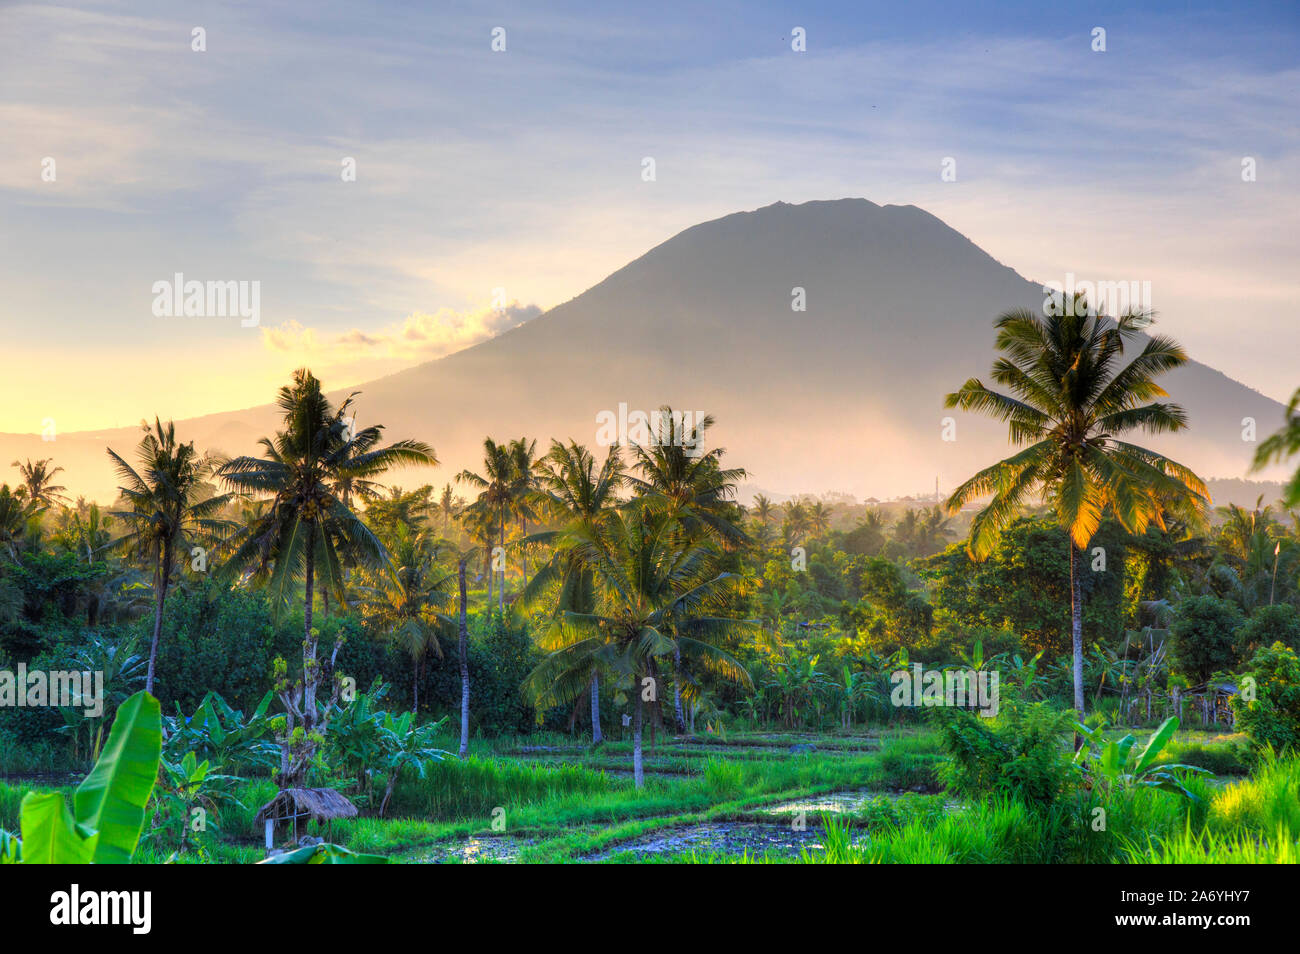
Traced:
<path id="1" fill-rule="evenodd" d="M 73 795 L 29 792 L 21 841 L 0 838 L 0 863 L 125 864 L 135 854 L 162 753 L 157 699 L 136 693 L 117 710 L 104 750 Z"/>

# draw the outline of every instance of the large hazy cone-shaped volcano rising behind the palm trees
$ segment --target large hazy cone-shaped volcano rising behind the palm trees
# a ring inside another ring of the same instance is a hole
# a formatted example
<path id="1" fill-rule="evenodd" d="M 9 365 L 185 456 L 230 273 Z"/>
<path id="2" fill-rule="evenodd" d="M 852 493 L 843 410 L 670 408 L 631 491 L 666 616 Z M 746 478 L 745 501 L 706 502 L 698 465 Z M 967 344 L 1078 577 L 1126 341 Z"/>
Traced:
<path id="1" fill-rule="evenodd" d="M 790 307 L 796 287 L 803 312 Z M 477 464 L 488 434 L 593 445 L 597 416 L 623 403 L 714 413 L 712 439 L 771 493 L 884 499 L 936 477 L 946 490 L 1008 445 L 1004 426 L 965 415 L 954 415 L 957 439 L 942 441 L 944 395 L 987 377 L 1000 312 L 1041 302 L 1040 285 L 913 205 L 776 203 L 686 229 L 525 325 L 355 389 L 359 420 L 434 445 L 443 467 L 403 482 L 450 480 Z M 1262 437 L 1283 419 L 1280 404 L 1205 364 L 1166 383 L 1192 426 L 1153 443 L 1200 473 L 1245 474 L 1256 445 L 1243 442 L 1242 420 L 1256 419 Z M 166 416 L 164 402 L 140 416 Z M 276 417 L 268 404 L 178 429 L 242 452 Z M 136 438 L 3 434 L 0 461 L 52 455 L 69 487 L 107 498 L 104 446 Z"/>

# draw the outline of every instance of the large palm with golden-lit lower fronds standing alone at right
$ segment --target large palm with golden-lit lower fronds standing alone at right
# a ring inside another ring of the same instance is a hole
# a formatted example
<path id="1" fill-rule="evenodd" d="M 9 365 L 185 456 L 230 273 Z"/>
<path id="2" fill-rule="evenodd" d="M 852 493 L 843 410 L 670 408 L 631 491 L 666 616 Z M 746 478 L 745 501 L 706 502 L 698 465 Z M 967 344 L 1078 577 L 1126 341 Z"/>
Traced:
<path id="1" fill-rule="evenodd" d="M 1066 313 L 1069 312 L 1069 313 Z M 1121 441 L 1140 430 L 1182 430 L 1187 416 L 1165 396 L 1156 377 L 1187 355 L 1173 339 L 1150 337 L 1141 352 L 1118 367 L 1124 346 L 1150 322 L 1144 313 L 1110 320 L 1076 298 L 1044 315 L 1006 312 L 996 321 L 993 380 L 1010 390 L 989 390 L 978 378 L 948 395 L 946 407 L 980 411 L 1006 421 L 1013 445 L 1023 447 L 962 483 L 948 499 L 950 513 L 992 494 L 971 524 L 967 548 L 987 556 L 1018 508 L 1045 499 L 1069 537 L 1070 616 L 1074 642 L 1074 706 L 1083 715 L 1083 607 L 1078 551 L 1088 546 L 1105 512 L 1130 533 L 1165 525 L 1165 515 L 1192 515 L 1206 503 L 1205 483 L 1188 468 L 1154 451 Z M 1150 403 L 1144 403 L 1150 402 Z"/>

